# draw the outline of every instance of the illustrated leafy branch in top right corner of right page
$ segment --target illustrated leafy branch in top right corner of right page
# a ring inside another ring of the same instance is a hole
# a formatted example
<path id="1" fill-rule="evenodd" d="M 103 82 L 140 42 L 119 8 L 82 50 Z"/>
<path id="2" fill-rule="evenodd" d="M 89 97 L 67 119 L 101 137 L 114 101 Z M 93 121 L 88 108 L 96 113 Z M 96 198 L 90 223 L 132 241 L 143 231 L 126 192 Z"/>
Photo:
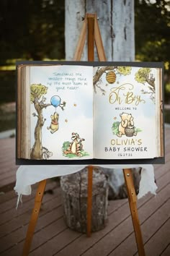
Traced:
<path id="1" fill-rule="evenodd" d="M 137 82 L 142 83 L 143 85 L 145 85 L 145 83 L 147 82 L 148 91 L 146 90 L 141 90 L 141 91 L 144 94 L 146 93 L 150 94 L 152 101 L 155 101 L 155 77 L 153 77 L 153 74 L 151 73 L 151 69 L 145 68 L 145 67 L 139 69 L 138 72 L 135 73 L 135 80 Z"/>

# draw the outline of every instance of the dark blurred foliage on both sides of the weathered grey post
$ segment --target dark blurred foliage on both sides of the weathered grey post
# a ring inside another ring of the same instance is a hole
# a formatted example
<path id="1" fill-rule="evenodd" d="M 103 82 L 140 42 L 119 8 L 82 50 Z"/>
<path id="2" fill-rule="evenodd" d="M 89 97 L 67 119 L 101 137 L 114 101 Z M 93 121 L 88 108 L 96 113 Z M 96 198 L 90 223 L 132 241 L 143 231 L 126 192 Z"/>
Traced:
<path id="1" fill-rule="evenodd" d="M 0 132 L 15 128 L 17 60 L 65 60 L 65 1 L 0 1 Z M 170 2 L 135 1 L 135 60 L 164 61 L 170 123 Z"/>

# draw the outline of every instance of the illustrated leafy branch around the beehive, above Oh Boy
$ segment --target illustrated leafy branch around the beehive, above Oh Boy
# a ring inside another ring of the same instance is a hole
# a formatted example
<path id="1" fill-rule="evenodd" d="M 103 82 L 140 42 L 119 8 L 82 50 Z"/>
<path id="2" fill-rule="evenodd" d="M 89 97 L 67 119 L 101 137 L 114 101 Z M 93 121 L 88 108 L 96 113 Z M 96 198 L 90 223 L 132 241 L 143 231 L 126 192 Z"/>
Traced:
<path id="1" fill-rule="evenodd" d="M 131 67 L 99 67 L 97 69 L 96 74 L 94 74 L 93 77 L 93 84 L 94 84 L 94 92 L 97 93 L 97 88 L 102 91 L 102 94 L 105 95 L 106 91 L 100 86 L 100 79 L 104 73 L 107 73 L 107 71 L 115 71 L 116 74 L 130 74 Z"/>

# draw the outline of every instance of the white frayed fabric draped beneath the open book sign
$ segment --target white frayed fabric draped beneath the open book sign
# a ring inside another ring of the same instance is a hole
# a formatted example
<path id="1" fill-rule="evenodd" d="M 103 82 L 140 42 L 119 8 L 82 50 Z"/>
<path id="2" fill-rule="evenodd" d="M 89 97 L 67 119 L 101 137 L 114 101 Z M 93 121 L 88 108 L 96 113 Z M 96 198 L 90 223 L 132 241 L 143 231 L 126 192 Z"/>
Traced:
<path id="1" fill-rule="evenodd" d="M 93 165 L 97 166 L 97 165 Z M 141 167 L 141 179 L 138 199 L 146 195 L 148 192 L 156 194 L 156 183 L 152 165 L 100 165 L 103 168 L 137 168 Z M 22 195 L 31 194 L 31 185 L 56 176 L 63 176 L 81 171 L 86 165 L 77 166 L 19 166 L 17 170 L 17 180 L 14 190 L 17 192 L 18 200 L 22 199 Z M 117 170 L 120 171 L 120 170 Z"/>

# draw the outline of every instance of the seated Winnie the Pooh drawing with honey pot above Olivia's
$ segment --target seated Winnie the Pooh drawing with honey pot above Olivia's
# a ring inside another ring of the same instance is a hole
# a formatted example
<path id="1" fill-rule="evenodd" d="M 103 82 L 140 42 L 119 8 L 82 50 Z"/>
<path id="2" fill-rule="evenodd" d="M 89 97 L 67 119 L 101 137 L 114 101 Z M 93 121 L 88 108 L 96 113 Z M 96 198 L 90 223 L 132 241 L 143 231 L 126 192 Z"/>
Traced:
<path id="1" fill-rule="evenodd" d="M 133 116 L 128 113 L 120 114 L 121 121 L 118 127 L 117 136 L 122 137 L 122 135 L 126 135 L 128 137 L 136 136 L 137 132 L 135 132 Z"/>

